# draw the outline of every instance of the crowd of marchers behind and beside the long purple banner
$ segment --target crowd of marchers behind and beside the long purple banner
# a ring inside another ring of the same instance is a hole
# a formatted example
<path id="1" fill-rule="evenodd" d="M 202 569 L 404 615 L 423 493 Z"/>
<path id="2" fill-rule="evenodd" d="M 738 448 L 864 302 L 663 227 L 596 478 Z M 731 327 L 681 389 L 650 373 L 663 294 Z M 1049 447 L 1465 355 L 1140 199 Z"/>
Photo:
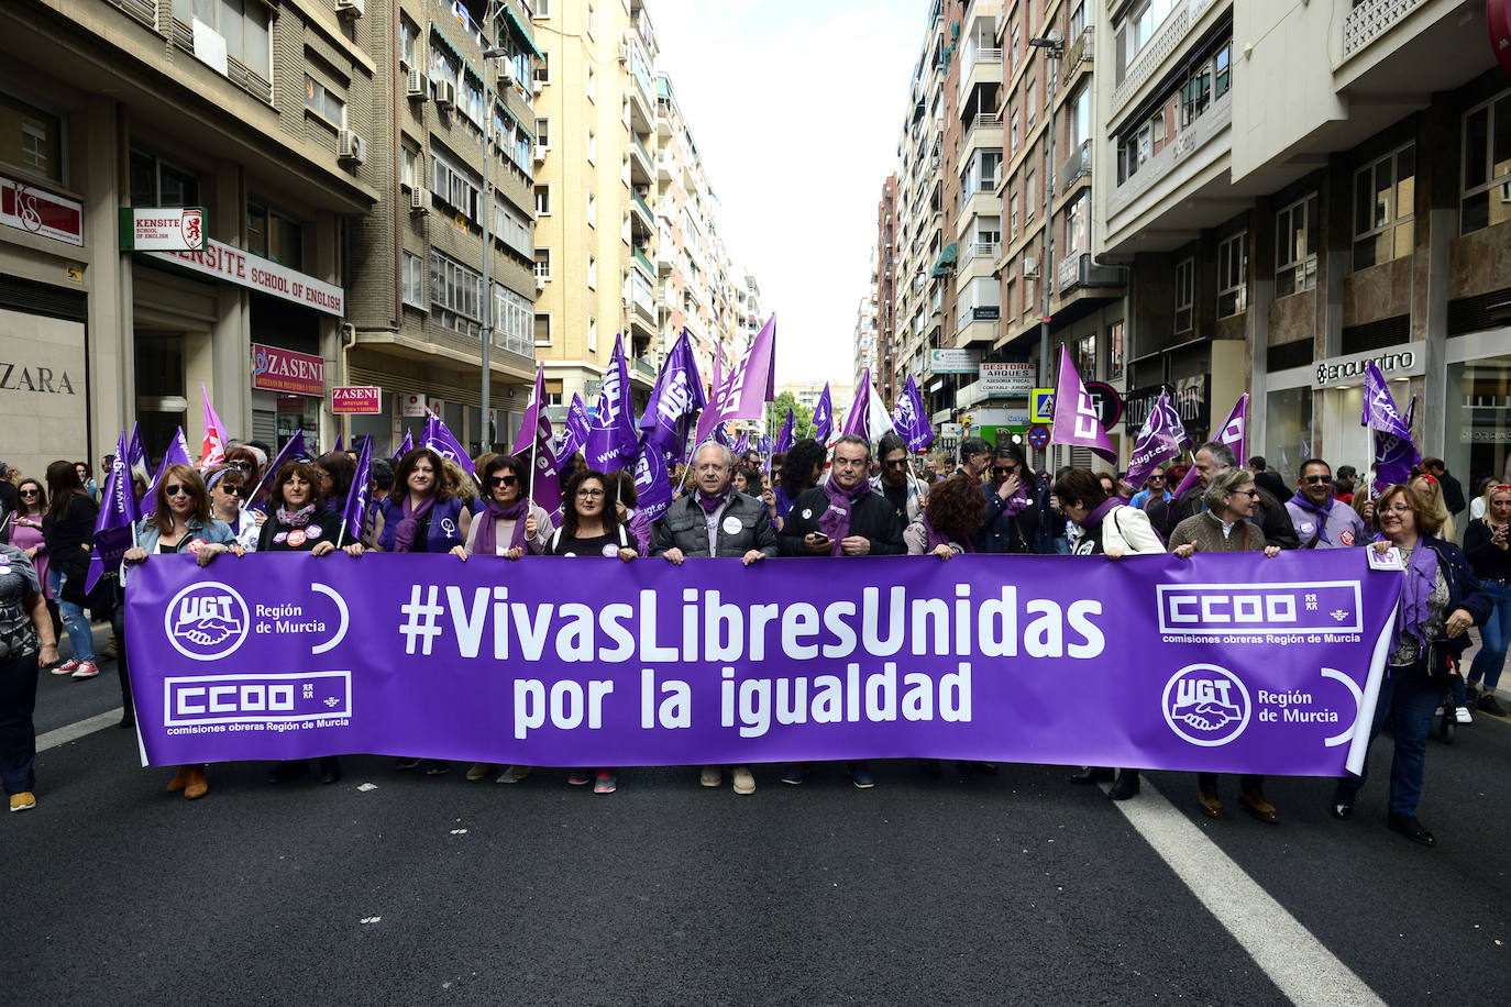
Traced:
<path id="1" fill-rule="evenodd" d="M 307 551 L 314 557 L 341 551 L 449 553 L 508 562 L 526 556 L 642 557 L 681 565 L 695 557 L 739 559 L 745 566 L 772 557 L 935 556 L 961 553 L 1064 554 L 1118 560 L 1126 556 L 1281 550 L 1398 550 L 1405 565 L 1401 616 L 1373 734 L 1393 726 L 1395 758 L 1389 824 L 1407 838 L 1435 842 L 1416 817 L 1426 738 L 1435 716 L 1472 722 L 1472 710 L 1505 716 L 1496 688 L 1511 645 L 1511 485 L 1488 482 L 1470 507 L 1458 545 L 1457 515 L 1466 509 L 1458 482 L 1440 459 L 1426 459 L 1407 483 L 1383 494 L 1360 491 L 1351 468 L 1337 473 L 1322 459 L 1306 460 L 1296 489 L 1268 468 L 1263 457 L 1239 465 L 1219 442 L 1198 447 L 1191 467 L 1156 468 L 1142 486 L 1120 474 L 1064 468 L 1034 471 L 1014 444 L 981 438 L 959 441 L 953 462 L 911 454 L 896 433 L 876 450 L 860 436 L 830 447 L 799 439 L 790 450 L 763 459 L 736 457 L 715 442 L 672 465 L 674 500 L 648 521 L 639 512 L 630 473 L 591 470 L 582 454 L 561 474 L 561 527 L 533 503 L 532 467 L 509 454 L 476 459 L 476 477 L 429 447 L 394 462 L 375 459 L 369 486 L 372 507 L 363 527 L 348 528 L 341 513 L 354 492 L 355 463 L 348 451 L 290 460 L 266 473 L 269 450 L 233 442 L 225 463 L 198 471 L 168 467 L 153 486 L 138 477 L 136 494 L 147 516 L 125 566 L 169 553 L 193 553 L 198 565 L 248 551 Z M 104 459 L 109 470 L 112 459 Z M 943 471 L 941 471 L 943 470 Z M 1191 488 L 1176 489 L 1194 471 Z M 252 498 L 255 497 L 255 500 Z M 35 806 L 35 732 L 32 710 L 41 667 L 88 679 L 98 675 L 91 621 L 109 621 L 112 654 L 124 704 L 122 728 L 133 726 L 122 625 L 122 589 L 113 571 L 85 592 L 92 548 L 98 486 L 89 465 L 48 465 L 45 480 L 24 479 L 0 462 L 0 770 L 11 809 Z M 1469 667 L 1469 628 L 1479 628 L 1481 648 Z M 57 642 L 66 631 L 71 657 L 60 661 Z M 443 774 L 446 762 L 400 758 L 397 770 Z M 502 771 L 499 771 L 502 768 Z M 781 781 L 801 785 L 811 765 L 789 765 Z M 473 764 L 467 779 L 497 774 L 518 782 L 529 765 Z M 734 793 L 751 794 L 748 765 L 706 765 L 700 782 L 721 787 L 728 771 Z M 846 764 L 858 788 L 875 785 L 864 761 Z M 938 776 L 937 759 L 920 771 Z M 988 762 L 961 762 L 959 773 L 996 773 Z M 305 761 L 280 762 L 270 784 L 310 773 Z M 328 756 L 319 779 L 340 779 L 340 761 Z M 1139 793 L 1136 767 L 1085 767 L 1071 782 L 1111 784 L 1109 796 Z M 570 768 L 568 784 L 613 793 L 615 767 Z M 1364 778 L 1345 778 L 1333 815 L 1348 818 Z M 209 793 L 204 765 L 180 767 L 168 784 L 187 799 Z M 1197 778 L 1197 805 L 1209 817 L 1224 814 L 1218 778 Z M 1280 812 L 1266 799 L 1263 778 L 1242 776 L 1239 806 L 1263 823 Z"/>

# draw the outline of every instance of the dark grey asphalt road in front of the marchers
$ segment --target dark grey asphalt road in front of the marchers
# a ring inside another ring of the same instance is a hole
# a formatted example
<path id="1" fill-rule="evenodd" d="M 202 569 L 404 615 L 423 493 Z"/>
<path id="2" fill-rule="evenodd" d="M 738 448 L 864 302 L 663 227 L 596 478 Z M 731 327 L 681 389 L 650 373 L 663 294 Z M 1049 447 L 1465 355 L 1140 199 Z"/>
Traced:
<path id="1" fill-rule="evenodd" d="M 38 731 L 118 704 L 113 666 L 44 675 Z M 1163 799 L 1191 826 L 1176 855 L 1241 868 L 1366 999 L 1511 1001 L 1511 725 L 1484 716 L 1428 752 L 1434 850 L 1384 827 L 1387 743 L 1354 820 L 1328 817 L 1328 781 L 1272 779 L 1278 826 L 1238 812 L 1231 778 L 1203 818 L 1188 773 L 1120 806 L 1044 765 L 963 784 L 881 762 L 870 791 L 757 767 L 751 797 L 695 768 L 595 796 L 562 770 L 345 765 L 332 787 L 215 765 L 187 802 L 113 725 L 42 752 L 38 808 L 0 832 L 0 1002 L 1287 1002 L 1312 963 L 1236 938 L 1207 906 L 1248 915 L 1244 889 L 1197 891 L 1124 814 Z"/>

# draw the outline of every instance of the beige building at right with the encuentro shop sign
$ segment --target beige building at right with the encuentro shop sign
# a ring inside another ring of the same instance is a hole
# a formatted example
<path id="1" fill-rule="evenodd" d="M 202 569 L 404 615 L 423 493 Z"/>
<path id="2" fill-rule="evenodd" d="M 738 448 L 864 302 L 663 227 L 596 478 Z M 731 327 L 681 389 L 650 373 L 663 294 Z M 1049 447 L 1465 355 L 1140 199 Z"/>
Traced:
<path id="1" fill-rule="evenodd" d="M 1503 477 L 1511 82 L 1484 6 L 1100 0 L 1092 242 L 1132 267 L 1130 400 L 1180 388 L 1201 436 L 1251 391 L 1283 473 L 1364 468 L 1375 359 L 1425 453 Z"/>

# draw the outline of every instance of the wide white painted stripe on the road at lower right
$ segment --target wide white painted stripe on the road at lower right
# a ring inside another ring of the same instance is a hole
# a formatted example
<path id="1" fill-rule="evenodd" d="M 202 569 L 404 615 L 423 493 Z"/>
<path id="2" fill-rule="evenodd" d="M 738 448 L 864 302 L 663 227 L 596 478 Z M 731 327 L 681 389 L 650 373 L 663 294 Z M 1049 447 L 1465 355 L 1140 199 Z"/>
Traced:
<path id="1" fill-rule="evenodd" d="M 1386 1001 L 1364 980 L 1147 779 L 1138 797 L 1115 803 L 1129 824 L 1292 1002 L 1384 1005 Z"/>

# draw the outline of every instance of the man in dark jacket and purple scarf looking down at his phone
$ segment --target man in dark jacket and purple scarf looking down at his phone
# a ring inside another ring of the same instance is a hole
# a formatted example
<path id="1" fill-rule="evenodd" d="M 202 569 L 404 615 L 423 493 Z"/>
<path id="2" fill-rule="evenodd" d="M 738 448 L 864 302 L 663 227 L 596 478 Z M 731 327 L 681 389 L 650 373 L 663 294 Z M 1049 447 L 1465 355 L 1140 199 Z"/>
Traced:
<path id="1" fill-rule="evenodd" d="M 846 433 L 834 445 L 830 479 L 798 494 L 787 512 L 787 522 L 777 536 L 783 556 L 902 556 L 902 519 L 881 494 L 872 492 L 866 473 L 870 444 Z M 848 765 L 855 787 L 876 785 L 866 762 Z M 807 765 L 787 767 L 783 784 L 801 784 Z"/>

